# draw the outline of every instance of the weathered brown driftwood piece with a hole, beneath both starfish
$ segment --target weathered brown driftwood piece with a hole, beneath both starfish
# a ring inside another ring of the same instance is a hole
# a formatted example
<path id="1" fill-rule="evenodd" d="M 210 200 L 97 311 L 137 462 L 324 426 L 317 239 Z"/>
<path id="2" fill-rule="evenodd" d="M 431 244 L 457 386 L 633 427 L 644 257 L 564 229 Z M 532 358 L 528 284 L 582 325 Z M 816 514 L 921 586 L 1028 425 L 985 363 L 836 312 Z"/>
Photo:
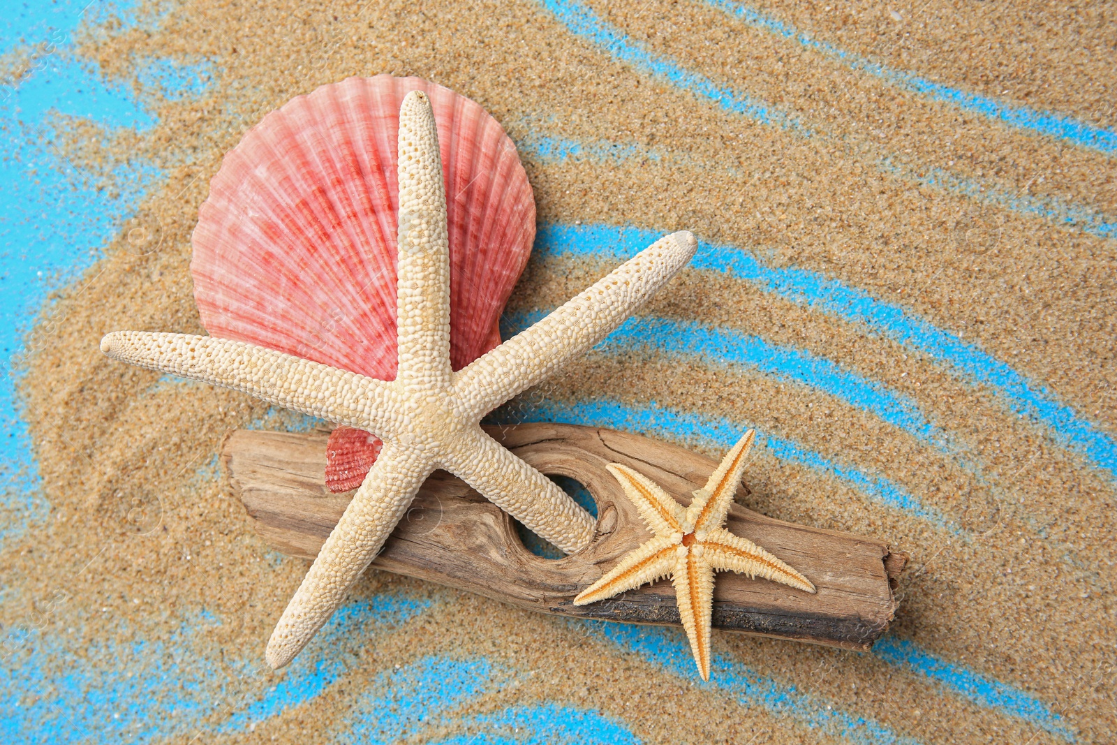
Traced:
<path id="1" fill-rule="evenodd" d="M 524 547 L 507 514 L 460 479 L 436 471 L 372 566 L 545 613 L 679 623 L 667 581 L 590 605 L 571 601 L 651 536 L 608 464 L 630 466 L 688 504 L 716 461 L 592 427 L 533 423 L 487 431 L 544 474 L 586 487 L 598 504 L 593 543 L 558 560 L 537 556 Z M 323 432 L 237 430 L 222 447 L 232 487 L 256 529 L 283 553 L 316 556 L 352 498 L 325 487 L 326 439 Z M 818 594 L 722 572 L 714 590 L 715 628 L 857 650 L 868 649 L 888 628 L 898 604 L 892 590 L 907 557 L 886 543 L 784 523 L 739 505 L 732 507 L 726 527 L 802 572 Z"/>

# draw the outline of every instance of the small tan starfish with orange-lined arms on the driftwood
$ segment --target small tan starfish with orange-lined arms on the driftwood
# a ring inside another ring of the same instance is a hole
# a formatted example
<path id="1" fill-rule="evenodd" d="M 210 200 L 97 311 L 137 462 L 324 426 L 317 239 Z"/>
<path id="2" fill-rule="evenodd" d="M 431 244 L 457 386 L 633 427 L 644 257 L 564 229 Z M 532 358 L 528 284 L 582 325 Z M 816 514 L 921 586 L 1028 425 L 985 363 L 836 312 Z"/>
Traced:
<path id="1" fill-rule="evenodd" d="M 585 605 L 669 575 L 703 680 L 709 680 L 715 571 L 732 570 L 814 592 L 814 585 L 802 574 L 723 527 L 754 437 L 753 430 L 745 432 L 706 486 L 694 491 L 694 500 L 686 508 L 647 476 L 620 464 L 607 466 L 655 537 L 622 556 L 617 566 L 574 599 L 575 605 Z"/>

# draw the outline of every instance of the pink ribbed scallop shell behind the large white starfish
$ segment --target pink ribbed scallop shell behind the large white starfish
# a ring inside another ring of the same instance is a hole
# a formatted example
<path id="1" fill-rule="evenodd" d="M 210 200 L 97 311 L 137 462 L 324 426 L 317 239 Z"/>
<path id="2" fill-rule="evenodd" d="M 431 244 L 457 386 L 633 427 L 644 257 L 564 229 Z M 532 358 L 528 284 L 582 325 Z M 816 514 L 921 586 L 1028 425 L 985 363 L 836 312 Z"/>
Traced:
<path id="1" fill-rule="evenodd" d="M 516 146 L 469 98 L 390 75 L 298 96 L 226 154 L 199 210 L 190 264 L 211 335 L 395 378 L 397 132 L 411 90 L 430 96 L 438 124 L 450 364 L 460 370 L 500 343 L 500 314 L 535 238 Z M 380 449 L 372 439 L 334 431 L 331 488 L 360 484 Z"/>

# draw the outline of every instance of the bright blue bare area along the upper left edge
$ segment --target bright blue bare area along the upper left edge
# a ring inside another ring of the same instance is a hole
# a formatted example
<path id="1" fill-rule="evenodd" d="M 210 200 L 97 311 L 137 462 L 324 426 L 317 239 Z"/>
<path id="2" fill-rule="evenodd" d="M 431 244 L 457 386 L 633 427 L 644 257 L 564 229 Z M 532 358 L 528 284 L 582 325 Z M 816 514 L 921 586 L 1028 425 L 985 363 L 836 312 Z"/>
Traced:
<path id="1" fill-rule="evenodd" d="M 111 173 L 76 170 L 57 149 L 58 126 L 75 117 L 99 125 L 106 136 L 154 124 L 135 95 L 107 83 L 88 63 L 70 56 L 70 37 L 86 2 L 17 3 L 3 15 L 0 48 L 37 52 L 18 85 L 0 87 L 0 489 L 3 535 L 41 520 L 49 507 L 39 496 L 27 426 L 15 400 L 23 334 L 47 294 L 73 281 L 101 257 L 159 173 L 124 164 Z M 122 6 L 98 6 L 108 13 Z M 125 6 L 126 7 L 126 6 Z M 88 16 L 87 11 L 86 16 Z M 99 189 L 102 180 L 114 189 Z M 31 188 L 28 188 L 31 187 Z M 47 323 L 63 324 L 51 316 Z"/>

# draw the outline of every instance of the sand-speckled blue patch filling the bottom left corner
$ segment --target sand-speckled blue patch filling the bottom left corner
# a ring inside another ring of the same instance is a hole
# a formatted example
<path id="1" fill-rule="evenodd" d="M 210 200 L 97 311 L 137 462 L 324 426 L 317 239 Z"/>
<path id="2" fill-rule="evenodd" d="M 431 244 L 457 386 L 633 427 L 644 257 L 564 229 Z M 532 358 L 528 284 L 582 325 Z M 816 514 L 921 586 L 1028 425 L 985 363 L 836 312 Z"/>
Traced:
<path id="1" fill-rule="evenodd" d="M 146 600 L 146 599 L 145 599 Z M 32 629 L 11 632 L 0 665 L 0 739 L 6 743 L 144 743 L 197 732 L 235 732 L 304 704 L 344 675 L 363 646 L 361 634 L 390 630 L 422 612 L 429 601 L 378 595 L 343 605 L 281 681 L 262 691 L 258 649 L 198 653 L 208 629 L 221 621 L 204 609 L 183 619 L 166 638 L 124 620 L 114 641 L 80 648 L 68 634 Z M 114 605 L 112 612 L 118 612 Z M 105 617 L 107 618 L 107 617 Z M 233 674 L 230 676 L 230 671 Z M 137 695 L 143 691 L 143 695 Z M 231 709 L 231 711 L 230 711 Z M 206 723 L 231 714 L 222 724 Z"/>

